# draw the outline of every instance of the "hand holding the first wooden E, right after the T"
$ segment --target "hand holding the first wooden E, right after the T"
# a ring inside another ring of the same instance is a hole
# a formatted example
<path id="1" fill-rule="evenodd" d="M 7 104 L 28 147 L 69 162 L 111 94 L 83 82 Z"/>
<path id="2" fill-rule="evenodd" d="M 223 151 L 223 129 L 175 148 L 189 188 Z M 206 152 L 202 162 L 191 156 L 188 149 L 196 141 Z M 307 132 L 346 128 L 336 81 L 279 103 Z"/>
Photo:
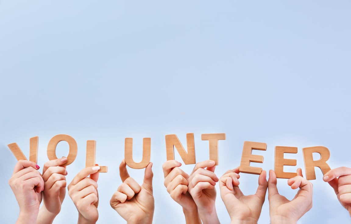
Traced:
<path id="1" fill-rule="evenodd" d="M 266 171 L 258 177 L 254 195 L 245 196 L 239 189 L 239 167 L 228 170 L 219 178 L 221 198 L 229 213 L 231 223 L 257 223 L 266 197 Z"/>

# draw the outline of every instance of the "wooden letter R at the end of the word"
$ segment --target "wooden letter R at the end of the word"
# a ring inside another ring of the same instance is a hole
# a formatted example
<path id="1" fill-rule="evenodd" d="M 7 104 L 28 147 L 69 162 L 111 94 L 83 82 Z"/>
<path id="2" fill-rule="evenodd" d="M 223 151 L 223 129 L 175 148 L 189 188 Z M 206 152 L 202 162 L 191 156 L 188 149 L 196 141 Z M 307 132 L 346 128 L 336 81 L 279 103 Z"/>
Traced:
<path id="1" fill-rule="evenodd" d="M 319 160 L 313 160 L 313 155 L 312 155 L 313 152 L 317 152 L 320 154 Z M 316 179 L 316 173 L 314 172 L 314 167 L 316 166 L 319 167 L 323 175 L 329 170 L 331 170 L 329 165 L 326 163 L 330 157 L 330 152 L 326 147 L 323 147 L 323 146 L 307 147 L 302 149 L 302 153 L 304 155 L 307 180 Z"/>

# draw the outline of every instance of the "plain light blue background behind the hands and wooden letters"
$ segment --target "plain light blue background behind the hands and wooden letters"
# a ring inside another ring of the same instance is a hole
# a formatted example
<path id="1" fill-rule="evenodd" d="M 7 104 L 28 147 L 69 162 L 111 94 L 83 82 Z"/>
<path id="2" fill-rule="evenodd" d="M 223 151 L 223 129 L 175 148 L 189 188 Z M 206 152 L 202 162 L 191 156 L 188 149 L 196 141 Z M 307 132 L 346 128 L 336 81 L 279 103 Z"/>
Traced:
<path id="1" fill-rule="evenodd" d="M 240 164 L 244 141 L 267 143 L 264 170 L 274 168 L 274 146 L 329 148 L 332 168 L 350 164 L 350 1 L 0 1 L 0 151 L 2 223 L 14 223 L 18 205 L 8 186 L 16 142 L 29 157 L 39 136 L 38 164 L 48 141 L 68 134 L 78 156 L 69 183 L 85 166 L 86 140 L 97 140 L 98 223 L 125 223 L 109 200 L 121 183 L 124 138 L 151 137 L 154 223 L 184 223 L 164 187 L 165 134 L 195 134 L 197 161 L 208 159 L 202 133 L 219 141 L 215 173 Z M 65 143 L 58 156 L 66 156 Z M 178 156 L 178 154 L 176 153 Z M 176 157 L 180 159 L 180 157 Z M 317 157 L 318 158 L 318 157 Z M 191 172 L 193 165 L 183 165 Z M 139 183 L 143 170 L 130 170 Z M 350 223 L 332 188 L 316 169 L 313 208 L 299 223 Z M 257 175 L 242 174 L 245 194 Z M 217 194 L 221 223 L 230 218 Z M 296 191 L 278 180 L 279 192 Z M 267 194 L 268 195 L 268 194 Z M 78 218 L 68 193 L 54 223 Z M 269 223 L 266 199 L 260 224 Z"/>

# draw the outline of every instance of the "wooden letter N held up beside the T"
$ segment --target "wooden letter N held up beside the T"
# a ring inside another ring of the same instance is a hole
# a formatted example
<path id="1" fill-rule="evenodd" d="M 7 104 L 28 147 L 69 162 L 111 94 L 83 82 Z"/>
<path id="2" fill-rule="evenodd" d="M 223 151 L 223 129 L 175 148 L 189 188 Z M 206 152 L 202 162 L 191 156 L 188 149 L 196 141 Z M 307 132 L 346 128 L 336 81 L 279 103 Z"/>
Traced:
<path id="1" fill-rule="evenodd" d="M 186 134 L 186 144 L 187 150 L 184 150 L 183 145 L 180 143 L 176 134 L 167 134 L 166 135 L 166 154 L 167 160 L 174 159 L 174 147 L 176 147 L 181 159 L 185 164 L 195 164 L 195 141 L 194 141 L 194 133 Z"/>

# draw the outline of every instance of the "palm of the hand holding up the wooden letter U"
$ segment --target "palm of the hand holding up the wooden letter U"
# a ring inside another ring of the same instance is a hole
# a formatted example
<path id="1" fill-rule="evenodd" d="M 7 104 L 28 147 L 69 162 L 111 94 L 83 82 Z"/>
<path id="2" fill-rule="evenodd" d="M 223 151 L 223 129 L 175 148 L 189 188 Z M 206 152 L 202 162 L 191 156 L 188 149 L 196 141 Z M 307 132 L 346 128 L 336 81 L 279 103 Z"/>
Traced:
<path id="1" fill-rule="evenodd" d="M 141 186 L 132 199 L 124 203 L 112 202 L 112 206 L 127 222 L 135 223 L 153 216 L 154 198 L 152 192 Z"/>

